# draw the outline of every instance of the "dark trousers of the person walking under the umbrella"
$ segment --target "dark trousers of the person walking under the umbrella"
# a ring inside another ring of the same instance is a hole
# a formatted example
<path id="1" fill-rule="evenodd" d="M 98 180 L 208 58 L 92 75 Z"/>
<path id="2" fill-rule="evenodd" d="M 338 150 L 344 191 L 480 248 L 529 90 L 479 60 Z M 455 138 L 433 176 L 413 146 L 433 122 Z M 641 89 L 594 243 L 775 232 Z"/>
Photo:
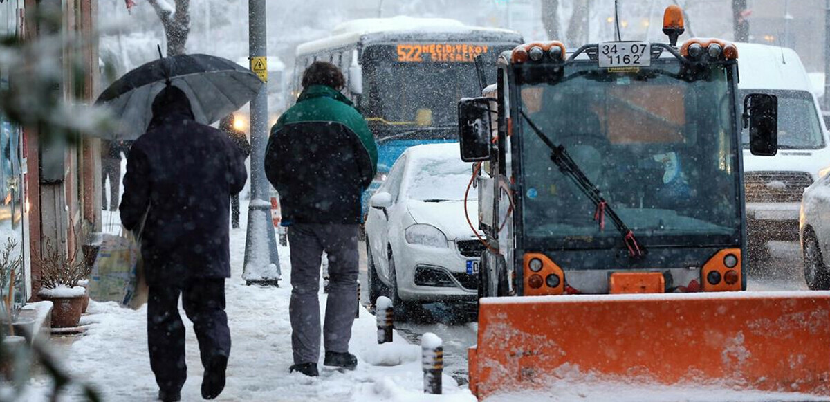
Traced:
<path id="1" fill-rule="evenodd" d="M 212 355 L 230 355 L 231 331 L 225 314 L 225 280 L 201 279 L 184 286 L 151 285 L 147 301 L 147 343 L 150 367 L 160 390 L 178 391 L 188 378 L 184 362 L 184 324 L 178 314 L 182 296 L 185 314 L 193 322 L 202 365 Z"/>

